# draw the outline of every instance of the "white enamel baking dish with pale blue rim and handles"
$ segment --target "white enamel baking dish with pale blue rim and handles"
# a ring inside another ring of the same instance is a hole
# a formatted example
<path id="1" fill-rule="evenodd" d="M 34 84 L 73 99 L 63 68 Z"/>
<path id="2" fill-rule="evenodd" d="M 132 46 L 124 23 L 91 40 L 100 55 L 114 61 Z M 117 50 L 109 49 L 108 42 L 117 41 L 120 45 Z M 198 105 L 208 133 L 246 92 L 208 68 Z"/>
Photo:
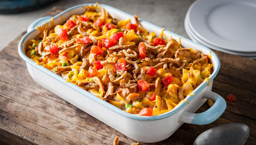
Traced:
<path id="1" fill-rule="evenodd" d="M 84 6 L 87 5 L 89 4 L 74 6 L 56 15 L 54 17 L 55 25 L 63 23 L 73 14 L 83 14 L 85 12 Z M 92 5 L 94 4 L 92 3 Z M 120 20 L 130 18 L 131 21 L 134 22 L 133 16 L 130 14 L 111 6 L 103 4 L 101 6 L 104 7 L 105 10 L 113 17 L 119 18 Z M 122 134 L 125 134 L 127 137 L 139 142 L 159 142 L 170 137 L 183 123 L 198 125 L 209 124 L 220 117 L 226 109 L 225 100 L 220 95 L 211 92 L 213 78 L 215 78 L 218 70 L 220 69 L 220 61 L 214 52 L 211 52 L 214 71 L 210 76 L 209 86 L 207 86 L 207 82 L 204 81 L 192 92 L 192 94 L 195 95 L 185 98 L 185 100 L 189 101 L 189 104 L 183 102 L 173 110 L 157 116 L 148 117 L 129 114 L 90 94 L 84 89 L 81 89 L 79 86 L 72 83 L 66 83 L 64 78 L 56 75 L 41 65 L 36 65 L 34 61 L 29 59 L 25 55 L 25 47 L 22 45 L 29 39 L 34 39 L 35 36 L 39 34 L 39 31 L 35 30 L 35 26 L 41 25 L 43 22 L 48 22 L 50 18 L 51 17 L 42 17 L 29 25 L 27 33 L 23 36 L 18 45 L 20 57 L 26 61 L 31 77 L 44 88 L 55 93 L 67 102 L 92 115 L 103 123 L 111 126 Z M 143 20 L 141 20 L 141 24 L 148 31 L 154 31 L 157 35 L 159 35 L 162 30 L 162 28 Z M 50 24 L 48 23 L 48 25 Z M 210 52 L 210 49 L 203 45 L 192 42 L 191 40 L 170 31 L 164 32 L 167 37 L 172 35 L 172 38 L 176 39 L 177 42 L 180 37 L 183 47 L 198 49 L 204 54 L 209 54 Z M 205 103 L 207 98 L 214 100 L 214 105 L 206 112 L 195 114 L 194 112 Z"/>

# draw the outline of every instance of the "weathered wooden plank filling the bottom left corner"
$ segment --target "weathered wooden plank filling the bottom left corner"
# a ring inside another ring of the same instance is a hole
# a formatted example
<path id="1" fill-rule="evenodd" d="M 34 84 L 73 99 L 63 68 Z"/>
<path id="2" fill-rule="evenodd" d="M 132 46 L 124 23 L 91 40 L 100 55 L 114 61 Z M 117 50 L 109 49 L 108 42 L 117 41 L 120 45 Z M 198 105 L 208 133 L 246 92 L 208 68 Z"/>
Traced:
<path id="1" fill-rule="evenodd" d="M 9 134 L 1 134 L 6 141 L 10 140 L 12 145 L 17 144 L 55 144 L 55 145 L 81 145 L 74 139 L 56 134 L 39 125 L 24 120 L 20 116 L 14 116 L 0 110 L 0 132 L 9 132 Z M 40 133 L 41 132 L 41 133 Z M 42 134 L 43 133 L 43 134 Z M 12 137 L 17 136 L 17 137 Z M 8 140 L 7 140 L 8 139 Z M 0 139 L 1 140 L 1 139 Z M 64 141 L 64 142 L 63 142 Z"/>

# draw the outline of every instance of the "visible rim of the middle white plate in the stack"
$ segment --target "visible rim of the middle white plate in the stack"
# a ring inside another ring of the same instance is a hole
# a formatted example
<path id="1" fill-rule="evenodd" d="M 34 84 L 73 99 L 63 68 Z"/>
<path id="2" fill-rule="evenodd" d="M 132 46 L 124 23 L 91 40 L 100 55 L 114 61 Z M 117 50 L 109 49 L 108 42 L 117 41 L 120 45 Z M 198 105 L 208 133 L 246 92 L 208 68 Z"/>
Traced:
<path id="1" fill-rule="evenodd" d="M 184 22 L 184 25 L 185 25 L 185 30 L 187 33 L 189 33 L 189 37 L 191 38 L 191 36 L 197 40 L 197 42 L 211 48 L 211 49 L 214 49 L 214 50 L 218 50 L 218 51 L 221 51 L 221 52 L 224 52 L 224 53 L 230 53 L 230 54 L 234 54 L 234 55 L 239 55 L 239 56 L 244 56 L 244 57 L 255 57 L 256 56 L 256 53 L 243 53 L 243 52 L 236 52 L 236 51 L 231 51 L 231 50 L 226 50 L 226 49 L 223 49 L 223 48 L 220 48 L 220 47 L 217 47 L 215 45 L 211 45 L 207 42 L 205 42 L 204 40 L 200 39 L 198 36 L 196 36 L 195 33 L 193 33 L 193 31 L 191 30 L 191 28 L 189 27 L 189 24 L 187 22 L 187 19 L 185 18 L 185 22 Z"/>

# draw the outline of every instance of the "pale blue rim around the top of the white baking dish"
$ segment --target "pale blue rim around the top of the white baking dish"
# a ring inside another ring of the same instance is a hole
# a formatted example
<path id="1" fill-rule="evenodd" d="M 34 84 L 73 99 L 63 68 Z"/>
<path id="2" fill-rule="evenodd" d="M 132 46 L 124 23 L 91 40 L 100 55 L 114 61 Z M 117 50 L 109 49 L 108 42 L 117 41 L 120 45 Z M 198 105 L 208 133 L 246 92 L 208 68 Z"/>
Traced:
<path id="1" fill-rule="evenodd" d="M 88 5 L 94 5 L 95 3 L 86 3 L 86 4 L 81 4 L 81 5 L 77 5 L 77 6 L 73 6 L 71 8 L 68 8 L 66 9 L 65 11 L 62 11 L 61 13 L 57 14 L 55 17 L 53 17 L 54 19 L 56 19 L 57 17 L 60 17 L 62 14 L 64 13 L 67 13 L 68 11 L 70 10 L 73 10 L 75 8 L 79 8 L 79 7 L 82 7 L 82 6 L 88 6 Z M 127 15 L 128 17 L 131 17 L 133 18 L 133 16 L 131 14 L 127 14 L 125 13 L 124 11 L 121 11 L 117 8 L 113 8 L 111 6 L 108 6 L 108 5 L 104 5 L 104 4 L 100 4 L 102 7 L 105 7 L 105 8 L 111 8 L 113 9 L 114 11 L 116 12 L 119 12 L 119 13 L 122 13 L 122 14 L 125 14 Z M 157 29 L 160 29 L 162 30 L 162 28 L 154 25 L 154 24 L 151 24 L 150 22 L 147 22 L 147 21 L 144 21 L 144 20 L 141 20 L 141 22 L 143 23 L 146 23 L 148 25 L 151 25 L 152 27 L 155 27 Z M 112 110 L 113 112 L 116 112 L 117 114 L 120 114 L 124 117 L 127 117 L 127 118 L 130 118 L 130 119 L 133 119 L 133 120 L 141 120 L 141 121 L 153 121 L 153 120 L 160 120 L 160 119 L 164 119 L 164 118 L 167 118 L 167 117 L 170 117 L 172 116 L 173 114 L 176 114 L 177 112 L 179 112 L 181 109 L 183 109 L 183 107 L 185 107 L 188 103 L 186 102 L 183 102 L 183 103 L 180 103 L 179 106 L 176 106 L 174 109 L 172 109 L 171 111 L 169 112 L 166 112 L 166 113 L 163 113 L 163 114 L 159 114 L 159 115 L 156 115 L 156 116 L 139 116 L 139 115 L 134 115 L 134 114 L 130 114 L 128 112 L 125 112 L 125 111 L 122 111 L 121 109 L 117 108 L 116 106 L 113 106 L 111 103 L 108 103 L 106 102 L 105 100 L 102 100 L 98 97 L 96 97 L 95 95 L 85 91 L 84 89 L 80 88 L 79 86 L 76 86 L 75 84 L 73 83 L 66 83 L 65 81 L 67 81 L 66 79 L 62 78 L 61 76 L 59 75 L 56 75 L 55 73 L 53 73 L 52 71 L 48 70 L 47 68 L 41 66 L 41 65 L 36 65 L 35 64 L 35 61 L 32 61 L 31 59 L 29 59 L 29 57 L 26 56 L 26 54 L 23 52 L 23 48 L 22 48 L 22 44 L 23 44 L 23 41 L 26 39 L 27 36 L 30 35 L 30 33 L 33 33 L 34 31 L 36 31 L 36 29 L 33 29 L 32 31 L 30 31 L 29 33 L 26 33 L 22 39 L 20 39 L 20 42 L 18 44 L 18 53 L 20 55 L 20 57 L 26 61 L 27 63 L 29 63 L 30 65 L 32 65 L 33 67 L 37 68 L 38 70 L 41 70 L 42 72 L 46 73 L 47 75 L 51 76 L 52 78 L 55 78 L 56 80 L 60 81 L 62 84 L 65 84 L 66 86 L 69 86 L 70 88 L 76 90 L 77 92 L 81 93 L 82 95 L 84 95 L 85 97 L 87 98 L 90 98 L 91 100 L 99 103 L 100 105 L 103 105 L 105 106 L 106 108 Z M 216 61 L 216 64 L 214 66 L 214 71 L 213 73 L 209 76 L 209 82 L 211 82 L 213 80 L 213 78 L 215 78 L 215 76 L 217 75 L 219 69 L 220 69 L 220 60 L 218 59 L 218 56 L 216 55 L 216 53 L 214 53 L 212 50 L 210 50 L 209 48 L 205 47 L 204 45 L 201 45 L 201 44 L 198 44 L 196 42 L 193 42 L 183 36 L 180 36 L 176 33 L 173 33 L 171 31 L 167 31 L 165 30 L 164 32 L 167 32 L 167 33 L 170 33 L 171 35 L 174 35 L 174 36 L 177 36 L 177 37 L 180 37 L 180 39 L 183 39 L 183 40 L 186 40 L 186 41 L 189 41 L 189 42 L 192 42 L 196 45 L 198 45 L 199 47 L 202 47 L 203 49 L 207 50 L 208 52 L 211 51 L 211 54 L 212 54 L 212 57 L 215 58 L 215 61 Z M 202 84 L 200 84 L 193 92 L 191 92 L 191 94 L 195 94 L 195 95 L 192 95 L 192 96 L 189 96 L 189 97 L 186 97 L 184 100 L 187 100 L 187 101 L 191 101 L 193 98 L 195 98 L 196 95 L 198 95 L 199 92 L 201 92 L 205 87 L 207 86 L 207 81 L 204 81 Z"/>

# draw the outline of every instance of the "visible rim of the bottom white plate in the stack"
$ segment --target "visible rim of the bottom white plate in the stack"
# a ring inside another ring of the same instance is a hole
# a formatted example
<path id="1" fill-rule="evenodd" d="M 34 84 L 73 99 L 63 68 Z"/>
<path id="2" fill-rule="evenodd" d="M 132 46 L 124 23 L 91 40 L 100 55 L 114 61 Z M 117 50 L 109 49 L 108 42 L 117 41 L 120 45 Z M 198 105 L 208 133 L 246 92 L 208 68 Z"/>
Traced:
<path id="1" fill-rule="evenodd" d="M 242 54 L 242 53 L 238 53 L 238 52 L 234 52 L 234 51 L 229 51 L 229 50 L 225 50 L 225 49 L 221 49 L 219 47 L 216 47 L 216 46 L 213 46 L 213 45 L 210 45 L 208 44 L 207 42 L 204 42 L 202 41 L 200 38 L 198 38 L 190 29 L 189 27 L 187 26 L 186 22 L 185 22 L 185 30 L 186 30 L 186 33 L 188 34 L 189 38 L 192 39 L 194 42 L 198 42 L 198 43 L 201 43 L 202 45 L 205 45 L 211 49 L 214 49 L 214 50 L 218 50 L 218 51 L 221 51 L 221 52 L 224 52 L 224 53 L 230 53 L 230 54 L 233 54 L 233 55 L 239 55 L 239 56 L 243 56 L 243 57 L 247 57 L 249 59 L 256 59 L 256 54 L 252 54 L 251 56 L 246 56 L 246 54 Z"/>

